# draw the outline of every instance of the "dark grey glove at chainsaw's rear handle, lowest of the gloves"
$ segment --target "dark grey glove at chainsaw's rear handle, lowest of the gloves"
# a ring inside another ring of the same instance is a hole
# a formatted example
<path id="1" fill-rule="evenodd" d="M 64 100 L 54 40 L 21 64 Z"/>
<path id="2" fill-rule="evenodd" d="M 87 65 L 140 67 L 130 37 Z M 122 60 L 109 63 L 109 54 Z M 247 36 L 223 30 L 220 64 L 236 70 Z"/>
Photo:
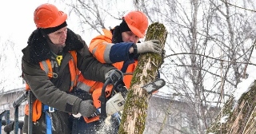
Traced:
<path id="1" fill-rule="evenodd" d="M 78 112 L 85 117 L 93 115 L 96 110 L 97 109 L 94 107 L 93 101 L 91 100 L 81 101 L 78 108 Z"/>

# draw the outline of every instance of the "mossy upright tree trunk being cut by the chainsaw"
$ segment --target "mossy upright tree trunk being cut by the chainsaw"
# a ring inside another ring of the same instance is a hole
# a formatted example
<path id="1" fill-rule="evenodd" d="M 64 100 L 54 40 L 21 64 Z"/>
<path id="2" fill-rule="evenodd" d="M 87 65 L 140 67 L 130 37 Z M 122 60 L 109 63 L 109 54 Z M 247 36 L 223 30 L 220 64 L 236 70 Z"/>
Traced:
<path id="1" fill-rule="evenodd" d="M 145 40 L 158 39 L 162 48 L 164 48 L 166 37 L 166 27 L 155 22 L 149 26 Z M 122 112 L 119 133 L 142 134 L 144 131 L 148 101 L 151 95 L 141 87 L 150 81 L 154 81 L 162 61 L 163 57 L 158 53 L 143 53 L 138 57 L 138 65 L 134 70 L 125 108 Z"/>

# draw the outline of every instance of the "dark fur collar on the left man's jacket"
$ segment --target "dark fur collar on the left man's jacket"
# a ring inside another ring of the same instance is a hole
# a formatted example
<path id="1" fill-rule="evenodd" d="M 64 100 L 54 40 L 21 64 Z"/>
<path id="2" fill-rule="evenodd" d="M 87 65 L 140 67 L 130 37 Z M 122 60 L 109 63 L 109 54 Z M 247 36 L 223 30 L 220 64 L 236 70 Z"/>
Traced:
<path id="1" fill-rule="evenodd" d="M 40 61 L 45 61 L 50 59 L 52 53 L 50 47 L 46 41 L 46 38 L 43 37 L 39 29 L 34 30 L 31 33 L 29 40 L 27 41 L 26 48 L 22 49 L 24 57 L 28 59 L 33 64 L 38 64 Z M 72 30 L 67 30 L 66 43 L 63 48 L 63 52 L 68 52 L 70 50 L 78 50 L 84 47 L 82 41 Z"/>

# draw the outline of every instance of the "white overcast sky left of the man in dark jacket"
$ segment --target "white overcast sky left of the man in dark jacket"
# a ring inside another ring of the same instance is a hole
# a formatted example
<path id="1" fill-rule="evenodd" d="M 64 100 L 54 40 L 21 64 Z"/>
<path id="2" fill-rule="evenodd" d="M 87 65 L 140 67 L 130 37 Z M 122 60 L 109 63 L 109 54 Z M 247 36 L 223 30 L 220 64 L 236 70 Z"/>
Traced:
<path id="1" fill-rule="evenodd" d="M 1 53 L 2 75 L 0 89 L 21 88 L 22 49 L 26 47 L 26 41 L 36 29 L 34 25 L 34 10 L 46 0 L 34 1 L 8 0 L 0 4 L 0 43 L 4 51 Z M 10 43 L 13 42 L 14 44 Z"/>

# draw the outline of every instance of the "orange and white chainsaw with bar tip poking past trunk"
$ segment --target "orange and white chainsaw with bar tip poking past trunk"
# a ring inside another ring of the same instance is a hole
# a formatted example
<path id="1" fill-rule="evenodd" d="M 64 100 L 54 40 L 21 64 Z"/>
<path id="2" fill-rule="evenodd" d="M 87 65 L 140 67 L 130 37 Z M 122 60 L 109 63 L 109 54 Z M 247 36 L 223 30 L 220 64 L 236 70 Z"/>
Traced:
<path id="1" fill-rule="evenodd" d="M 92 93 L 92 99 L 97 111 L 90 117 L 84 117 L 86 123 L 100 119 L 105 120 L 107 116 L 112 116 L 117 112 L 120 114 L 120 112 L 122 112 L 124 104 L 126 103 L 128 90 L 122 81 L 122 72 L 118 71 L 118 73 L 118 75 L 115 73 L 110 74 L 110 77 L 106 79 L 102 89 L 96 89 Z M 147 93 L 154 93 L 164 85 L 166 85 L 166 81 L 158 78 L 149 84 L 143 85 L 142 89 L 145 89 Z"/>

